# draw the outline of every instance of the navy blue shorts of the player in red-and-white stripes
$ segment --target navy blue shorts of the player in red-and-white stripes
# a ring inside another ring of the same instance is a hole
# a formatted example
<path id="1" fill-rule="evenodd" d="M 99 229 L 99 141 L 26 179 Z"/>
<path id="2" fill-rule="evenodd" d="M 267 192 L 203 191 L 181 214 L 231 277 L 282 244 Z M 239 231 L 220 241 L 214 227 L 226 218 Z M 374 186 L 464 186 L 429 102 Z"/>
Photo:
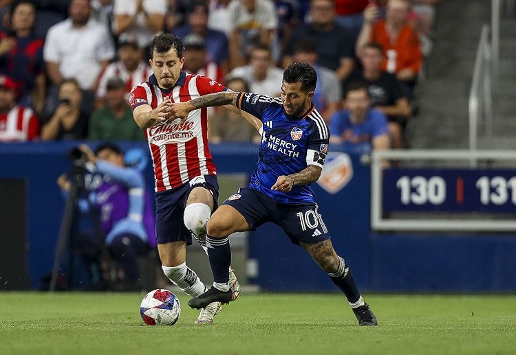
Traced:
<path id="1" fill-rule="evenodd" d="M 189 183 L 164 192 L 156 192 L 156 244 L 185 241 L 192 244 L 191 231 L 184 225 L 184 207 L 194 187 L 203 186 L 213 193 L 213 209 L 217 208 L 219 183 L 217 176 L 202 175 L 191 179 Z"/>

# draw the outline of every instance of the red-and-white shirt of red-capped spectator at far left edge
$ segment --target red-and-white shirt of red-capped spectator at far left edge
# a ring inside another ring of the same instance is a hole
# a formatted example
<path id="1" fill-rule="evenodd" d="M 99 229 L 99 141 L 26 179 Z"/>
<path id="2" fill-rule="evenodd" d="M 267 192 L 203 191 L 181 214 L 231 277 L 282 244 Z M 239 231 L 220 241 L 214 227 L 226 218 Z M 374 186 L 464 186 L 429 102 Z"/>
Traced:
<path id="1" fill-rule="evenodd" d="M 39 120 L 30 108 L 17 105 L 8 113 L 0 113 L 0 141 L 32 141 L 38 137 Z"/>

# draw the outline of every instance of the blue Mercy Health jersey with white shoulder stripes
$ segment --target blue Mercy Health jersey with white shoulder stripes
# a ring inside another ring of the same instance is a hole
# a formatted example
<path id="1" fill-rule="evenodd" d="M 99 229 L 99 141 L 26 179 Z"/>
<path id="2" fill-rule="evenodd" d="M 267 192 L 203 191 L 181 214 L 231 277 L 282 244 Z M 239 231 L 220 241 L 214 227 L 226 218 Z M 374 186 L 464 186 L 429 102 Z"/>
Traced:
<path id="1" fill-rule="evenodd" d="M 239 93 L 237 107 L 261 119 L 264 133 L 258 163 L 249 187 L 281 203 L 314 201 L 310 185 L 295 185 L 290 192 L 271 190 L 278 176 L 300 172 L 308 165 L 323 168 L 330 133 L 313 104 L 302 117 L 285 115 L 281 98 L 255 93 Z"/>

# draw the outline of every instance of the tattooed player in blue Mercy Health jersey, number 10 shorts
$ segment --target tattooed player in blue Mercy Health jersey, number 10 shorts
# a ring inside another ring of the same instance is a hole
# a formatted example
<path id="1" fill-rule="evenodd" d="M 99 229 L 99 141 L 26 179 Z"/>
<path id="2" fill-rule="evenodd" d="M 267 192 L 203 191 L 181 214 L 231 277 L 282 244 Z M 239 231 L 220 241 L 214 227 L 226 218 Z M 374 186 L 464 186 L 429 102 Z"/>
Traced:
<path id="1" fill-rule="evenodd" d="M 189 112 L 197 108 L 233 104 L 261 117 L 263 123 L 258 163 L 248 187 L 224 201 L 208 221 L 206 242 L 214 282 L 212 288 L 189 301 L 192 308 L 233 300 L 228 284 L 228 236 L 273 222 L 342 290 L 359 325 L 377 324 L 356 288 L 350 267 L 333 249 L 314 203 L 310 184 L 321 175 L 330 137 L 323 117 L 312 104 L 316 81 L 310 65 L 294 63 L 283 72 L 281 98 L 225 91 L 171 105 L 175 118 L 188 119 Z"/>

